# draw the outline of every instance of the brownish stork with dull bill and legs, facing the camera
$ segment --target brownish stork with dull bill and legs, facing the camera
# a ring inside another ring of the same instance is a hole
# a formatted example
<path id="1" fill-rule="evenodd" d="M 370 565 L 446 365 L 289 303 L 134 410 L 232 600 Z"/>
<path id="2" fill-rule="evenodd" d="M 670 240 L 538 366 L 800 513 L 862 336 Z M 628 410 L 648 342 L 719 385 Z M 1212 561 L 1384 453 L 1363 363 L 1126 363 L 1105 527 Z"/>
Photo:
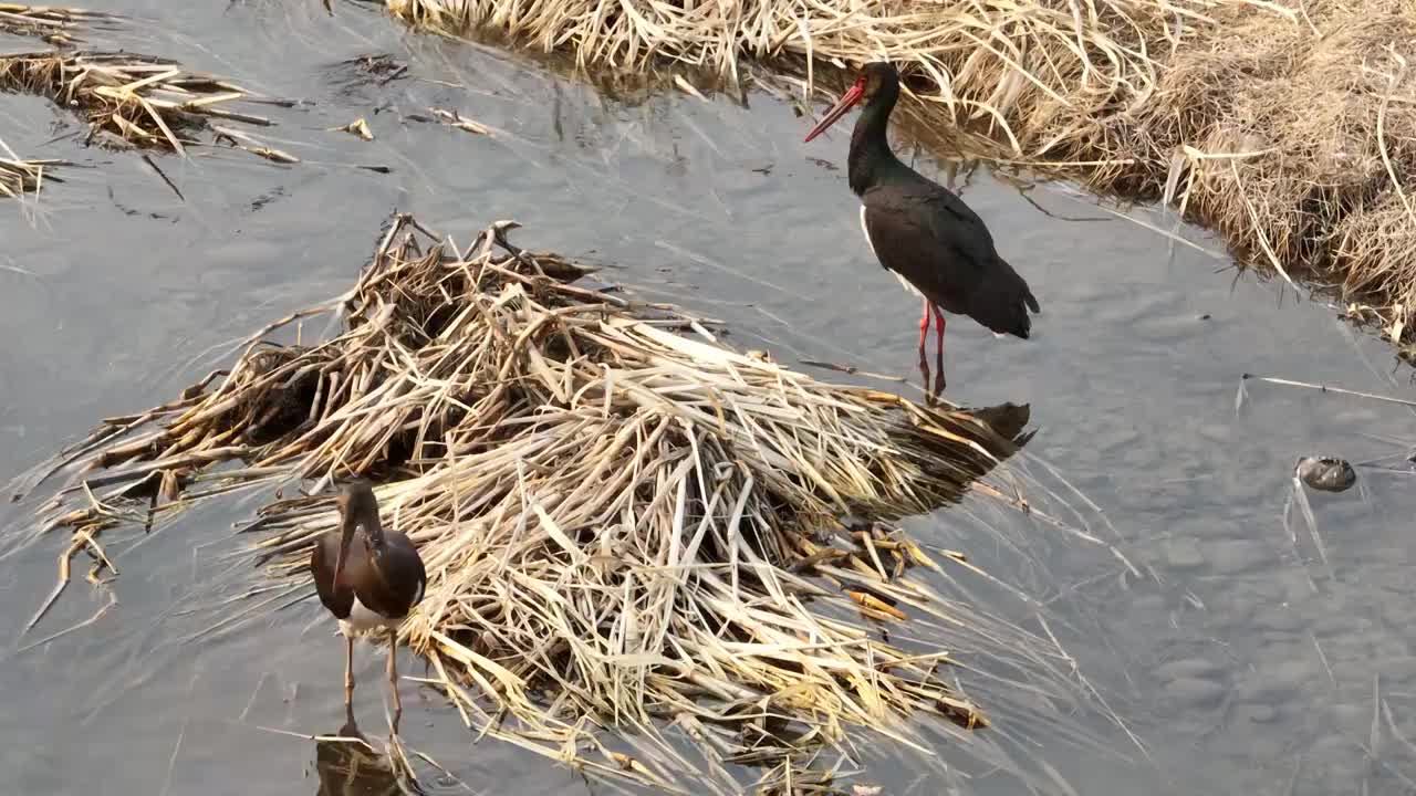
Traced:
<path id="1" fill-rule="evenodd" d="M 394 722 L 404 712 L 398 698 L 398 626 L 423 598 L 428 574 L 418 548 L 404 534 L 385 531 L 378 500 L 365 482 L 354 482 L 337 499 L 340 527 L 320 537 L 310 554 L 314 591 L 340 620 L 344 633 L 344 705 L 354 700 L 354 636 L 388 630 L 388 686 Z M 362 528 L 362 534 L 357 531 Z"/>

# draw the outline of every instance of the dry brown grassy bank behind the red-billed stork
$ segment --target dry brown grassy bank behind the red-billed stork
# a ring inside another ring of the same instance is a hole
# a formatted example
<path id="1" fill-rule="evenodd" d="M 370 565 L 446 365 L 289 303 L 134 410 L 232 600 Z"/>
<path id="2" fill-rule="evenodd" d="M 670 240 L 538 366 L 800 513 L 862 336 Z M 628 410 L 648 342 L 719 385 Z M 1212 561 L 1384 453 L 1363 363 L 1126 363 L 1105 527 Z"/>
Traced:
<path id="1" fill-rule="evenodd" d="M 387 0 L 435 31 L 491 30 L 583 65 L 738 78 L 889 58 L 932 118 L 1093 190 L 1163 200 L 1246 266 L 1331 289 L 1412 340 L 1416 3 Z"/>

